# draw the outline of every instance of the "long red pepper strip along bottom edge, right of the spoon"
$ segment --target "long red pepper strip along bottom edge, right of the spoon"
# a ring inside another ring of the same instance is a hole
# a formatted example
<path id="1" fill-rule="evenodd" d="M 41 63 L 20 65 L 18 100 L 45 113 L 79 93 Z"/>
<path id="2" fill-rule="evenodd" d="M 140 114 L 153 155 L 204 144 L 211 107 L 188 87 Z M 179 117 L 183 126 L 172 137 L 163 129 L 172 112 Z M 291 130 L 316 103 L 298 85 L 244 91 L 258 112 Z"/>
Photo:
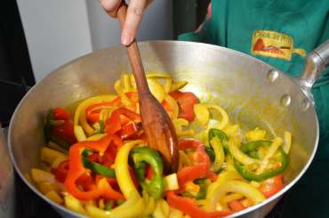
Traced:
<path id="1" fill-rule="evenodd" d="M 198 207 L 193 199 L 178 196 L 173 190 L 167 191 L 166 196 L 169 206 L 173 206 L 173 208 L 180 210 L 184 214 L 188 214 L 191 218 L 216 218 L 232 214 L 230 211 L 208 213 Z"/>

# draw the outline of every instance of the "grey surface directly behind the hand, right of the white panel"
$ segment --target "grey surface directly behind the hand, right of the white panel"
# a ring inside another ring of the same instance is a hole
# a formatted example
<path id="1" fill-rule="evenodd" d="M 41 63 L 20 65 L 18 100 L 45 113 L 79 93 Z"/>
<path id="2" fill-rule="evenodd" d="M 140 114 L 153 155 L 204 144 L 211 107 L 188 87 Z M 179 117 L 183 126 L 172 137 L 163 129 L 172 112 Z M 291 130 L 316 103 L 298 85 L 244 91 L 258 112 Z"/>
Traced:
<path id="1" fill-rule="evenodd" d="M 92 33 L 92 48 L 99 50 L 119 44 L 121 29 L 118 21 L 111 19 L 100 8 L 98 0 L 87 0 L 87 10 Z M 143 14 L 137 40 L 171 39 L 172 23 L 172 1 L 155 0 Z"/>

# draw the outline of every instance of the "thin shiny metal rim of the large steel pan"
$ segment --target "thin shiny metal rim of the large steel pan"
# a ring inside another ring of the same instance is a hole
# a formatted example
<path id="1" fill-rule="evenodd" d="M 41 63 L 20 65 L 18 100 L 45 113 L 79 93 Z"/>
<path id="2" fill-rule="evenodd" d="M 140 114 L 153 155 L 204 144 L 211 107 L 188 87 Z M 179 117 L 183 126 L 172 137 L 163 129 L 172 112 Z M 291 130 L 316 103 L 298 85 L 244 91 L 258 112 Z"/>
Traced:
<path id="1" fill-rule="evenodd" d="M 205 43 L 187 42 L 187 41 L 175 41 L 175 40 L 150 40 L 150 41 L 143 41 L 143 42 L 140 42 L 138 44 L 140 45 L 140 47 L 143 46 L 144 44 L 164 44 L 164 45 L 165 44 L 190 44 L 190 45 L 193 45 L 193 44 L 202 44 L 202 46 L 211 48 L 213 50 L 222 50 L 222 51 L 225 51 L 225 52 L 234 53 L 235 55 L 243 56 L 245 58 L 249 58 L 255 64 L 265 65 L 265 66 L 269 67 L 269 69 L 276 69 L 273 66 L 269 65 L 268 63 L 266 63 L 264 61 L 261 61 L 261 60 L 255 58 L 255 57 L 253 57 L 251 55 L 245 54 L 243 52 L 238 52 L 236 50 L 232 50 L 232 49 L 229 49 L 229 48 L 226 48 L 226 47 L 222 47 L 222 46 L 219 46 L 219 45 L 216 45 L 216 44 L 205 44 Z M 85 216 L 84 214 L 76 213 L 75 211 L 68 209 L 66 206 L 61 206 L 61 205 L 59 205 L 57 203 L 54 203 L 51 199 L 46 198 L 45 195 L 43 193 L 41 193 L 40 190 L 37 190 L 36 187 L 32 184 L 32 182 L 28 182 L 28 180 L 26 179 L 26 177 L 24 176 L 24 174 L 20 171 L 20 168 L 17 166 L 16 161 L 15 161 L 15 157 L 13 155 L 13 150 L 12 150 L 12 125 L 13 125 L 14 119 L 16 117 L 17 111 L 20 109 L 20 107 L 23 104 L 23 102 L 26 101 L 26 99 L 28 98 L 28 96 L 30 95 L 30 93 L 34 92 L 34 90 L 36 89 L 36 87 L 38 85 L 40 85 L 44 80 L 46 80 L 49 77 L 51 77 L 57 71 L 59 71 L 60 69 L 64 69 L 67 66 L 69 66 L 70 64 L 72 64 L 72 63 L 74 63 L 76 61 L 80 61 L 80 60 L 82 60 L 82 59 L 84 59 L 84 58 L 86 58 L 86 57 L 88 57 L 90 55 L 93 55 L 93 54 L 97 53 L 97 52 L 103 52 L 105 50 L 120 49 L 120 47 L 122 47 L 122 46 L 123 45 L 110 46 L 110 47 L 102 48 L 102 49 L 97 50 L 97 51 L 86 53 L 86 54 L 84 54 L 84 55 L 82 55 L 80 57 L 77 57 L 76 59 L 74 59 L 72 61 L 68 61 L 67 63 L 61 65 L 59 68 L 52 70 L 51 73 L 49 73 L 42 80 L 40 80 L 39 82 L 37 82 L 36 85 L 33 85 L 28 90 L 28 93 L 26 93 L 24 95 L 24 97 L 20 100 L 20 103 L 17 105 L 16 109 L 14 110 L 14 112 L 12 114 L 10 125 L 9 125 L 9 129 L 8 129 L 8 150 L 9 150 L 9 156 L 11 158 L 12 165 L 14 166 L 15 171 L 20 175 L 20 179 L 28 186 L 28 188 L 30 190 L 33 190 L 33 192 L 37 196 L 39 196 L 40 198 L 44 199 L 44 201 L 46 201 L 48 204 L 50 204 L 50 206 L 52 206 L 54 209 L 56 209 L 56 212 L 58 214 L 60 214 L 60 215 L 61 215 L 61 212 L 65 212 L 65 213 L 68 213 L 70 215 L 75 215 L 77 217 L 88 217 L 88 216 Z M 278 70 L 278 71 L 279 72 L 282 72 L 280 70 Z M 289 79 L 289 80 L 291 80 L 291 82 L 293 83 L 293 85 L 297 85 L 294 82 L 293 77 L 287 76 L 284 72 L 282 72 L 282 74 L 280 74 L 280 75 L 283 76 L 283 77 L 285 77 L 285 78 L 287 78 L 287 79 Z M 297 85 L 297 87 L 299 88 L 299 90 L 301 91 L 301 93 L 305 97 L 308 97 L 308 96 L 305 95 L 305 93 L 302 92 L 300 85 Z M 274 200 L 276 200 L 278 198 L 283 197 L 284 194 L 285 194 L 285 192 L 287 190 L 290 190 L 293 187 L 293 185 L 301 179 L 301 176 L 303 174 L 305 174 L 305 172 L 309 169 L 309 166 L 310 166 L 311 162 L 313 161 L 313 159 L 314 159 L 314 157 L 316 155 L 318 141 L 319 141 L 319 124 L 318 124 L 317 112 L 316 112 L 316 110 L 315 110 L 315 108 L 314 108 L 314 106 L 312 104 L 310 105 L 310 108 L 309 109 L 311 109 L 312 110 L 312 113 L 315 115 L 317 135 L 316 135 L 315 146 L 314 146 L 314 148 L 313 148 L 313 150 L 312 150 L 312 152 L 311 152 L 311 154 L 309 156 L 308 161 L 306 162 L 306 164 L 302 168 L 302 170 L 299 172 L 299 174 L 297 174 L 297 176 L 293 179 L 292 182 L 289 182 L 287 185 L 285 185 L 285 188 L 284 189 L 280 190 L 279 192 L 277 192 L 272 197 L 267 198 L 266 200 L 262 201 L 260 204 L 257 204 L 257 205 L 248 207 L 245 210 L 242 210 L 240 212 L 237 212 L 235 214 L 232 214 L 232 215 L 229 215 L 229 216 L 226 216 L 226 217 L 237 217 L 237 216 L 240 216 L 240 215 L 243 215 L 243 214 L 248 214 L 250 212 L 256 211 L 257 209 L 261 208 L 262 206 L 268 205 L 270 202 L 272 202 L 272 201 L 274 201 Z"/>

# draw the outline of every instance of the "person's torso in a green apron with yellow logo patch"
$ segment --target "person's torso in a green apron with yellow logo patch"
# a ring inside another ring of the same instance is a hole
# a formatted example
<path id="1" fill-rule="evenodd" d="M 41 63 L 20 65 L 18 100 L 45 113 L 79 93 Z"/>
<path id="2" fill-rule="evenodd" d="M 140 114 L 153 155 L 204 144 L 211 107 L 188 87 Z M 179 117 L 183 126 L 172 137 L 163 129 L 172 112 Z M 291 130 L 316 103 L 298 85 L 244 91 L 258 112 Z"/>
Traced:
<path id="1" fill-rule="evenodd" d="M 211 16 L 199 31 L 181 39 L 245 52 L 296 77 L 306 54 L 329 38 L 328 11 L 328 0 L 213 0 Z M 329 132 L 328 69 L 313 94 L 324 135 Z"/>

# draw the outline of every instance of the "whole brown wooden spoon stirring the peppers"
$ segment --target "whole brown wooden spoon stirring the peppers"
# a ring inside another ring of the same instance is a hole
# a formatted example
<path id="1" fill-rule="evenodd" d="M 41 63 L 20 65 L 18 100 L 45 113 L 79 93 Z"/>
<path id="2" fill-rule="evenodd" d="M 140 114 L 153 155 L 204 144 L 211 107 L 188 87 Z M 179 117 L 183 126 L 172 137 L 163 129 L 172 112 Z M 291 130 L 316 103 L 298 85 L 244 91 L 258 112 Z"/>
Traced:
<path id="1" fill-rule="evenodd" d="M 126 11 L 126 4 L 122 4 L 117 10 L 117 17 L 122 28 L 124 27 Z M 165 171 L 177 172 L 179 163 L 178 142 L 172 119 L 149 91 L 140 51 L 135 40 L 126 48 L 137 85 L 141 125 L 148 138 L 148 146 L 157 149 L 162 154 Z"/>

